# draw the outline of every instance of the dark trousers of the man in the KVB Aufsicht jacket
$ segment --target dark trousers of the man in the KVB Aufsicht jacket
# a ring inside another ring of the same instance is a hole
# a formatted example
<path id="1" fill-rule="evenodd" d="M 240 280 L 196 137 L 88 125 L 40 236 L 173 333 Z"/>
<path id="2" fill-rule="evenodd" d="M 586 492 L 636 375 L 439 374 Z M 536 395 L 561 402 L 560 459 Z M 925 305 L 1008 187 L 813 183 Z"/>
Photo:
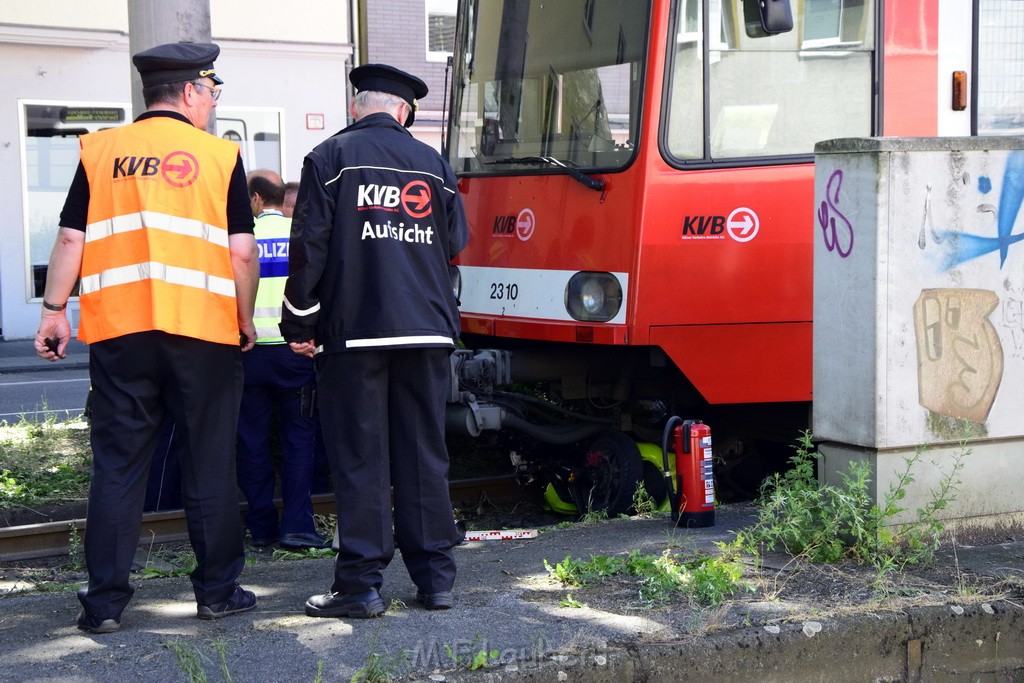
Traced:
<path id="1" fill-rule="evenodd" d="M 423 348 L 316 358 L 338 507 L 333 592 L 379 588 L 395 541 L 422 592 L 451 591 L 455 584 L 455 515 L 444 444 L 449 355 L 446 348 Z"/>

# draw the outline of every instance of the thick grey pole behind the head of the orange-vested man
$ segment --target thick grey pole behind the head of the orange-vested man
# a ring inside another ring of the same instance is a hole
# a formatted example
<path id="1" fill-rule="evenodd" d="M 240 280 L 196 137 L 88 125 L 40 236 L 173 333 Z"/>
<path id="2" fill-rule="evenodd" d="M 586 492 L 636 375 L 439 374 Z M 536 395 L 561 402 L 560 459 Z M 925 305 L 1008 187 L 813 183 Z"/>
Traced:
<path id="1" fill-rule="evenodd" d="M 126 0 L 128 3 L 128 54 L 164 43 L 209 43 L 210 0 Z M 132 116 L 145 111 L 142 81 L 132 66 Z M 210 132 L 217 129 L 216 110 L 210 113 Z"/>

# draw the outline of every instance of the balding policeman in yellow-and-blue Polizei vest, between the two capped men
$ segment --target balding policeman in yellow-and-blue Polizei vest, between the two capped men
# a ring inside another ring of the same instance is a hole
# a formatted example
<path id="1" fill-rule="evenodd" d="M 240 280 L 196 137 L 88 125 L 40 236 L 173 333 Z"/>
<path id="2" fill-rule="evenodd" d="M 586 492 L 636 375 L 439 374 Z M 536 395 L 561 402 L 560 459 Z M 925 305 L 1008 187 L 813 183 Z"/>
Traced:
<path id="1" fill-rule="evenodd" d="M 249 201 L 256 216 L 260 279 L 256 291 L 256 345 L 242 358 L 245 387 L 239 414 L 237 464 L 239 487 L 246 496 L 246 526 L 258 548 L 279 540 L 283 548 L 324 548 L 309 499 L 313 477 L 312 360 L 297 355 L 278 329 L 288 276 L 288 239 L 292 219 L 282 213 L 285 183 L 275 172 L 260 169 L 248 176 Z M 270 456 L 270 424 L 281 425 L 281 497 L 279 520 L 273 494 L 278 477 Z"/>

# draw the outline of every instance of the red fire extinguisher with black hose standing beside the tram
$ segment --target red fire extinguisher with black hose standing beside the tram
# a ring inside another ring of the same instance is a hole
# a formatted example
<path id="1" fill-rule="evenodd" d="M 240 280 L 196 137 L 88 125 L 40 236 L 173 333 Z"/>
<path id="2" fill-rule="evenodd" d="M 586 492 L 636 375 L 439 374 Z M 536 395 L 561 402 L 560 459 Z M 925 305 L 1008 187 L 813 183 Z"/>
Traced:
<path id="1" fill-rule="evenodd" d="M 676 453 L 676 480 L 669 468 L 669 436 Z M 672 521 L 679 526 L 715 525 L 715 479 L 712 473 L 711 427 L 700 420 L 669 418 L 662 437 Z"/>

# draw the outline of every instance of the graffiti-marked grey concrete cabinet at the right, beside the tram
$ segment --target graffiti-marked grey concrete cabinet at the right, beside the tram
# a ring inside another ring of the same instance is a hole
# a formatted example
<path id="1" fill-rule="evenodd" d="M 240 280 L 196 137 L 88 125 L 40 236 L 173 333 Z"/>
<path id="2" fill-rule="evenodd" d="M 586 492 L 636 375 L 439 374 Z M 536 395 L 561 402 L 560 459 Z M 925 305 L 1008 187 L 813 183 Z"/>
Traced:
<path id="1" fill-rule="evenodd" d="M 879 502 L 923 450 L 896 521 L 959 459 L 959 525 L 1024 518 L 1021 139 L 857 138 L 815 148 L 820 478 L 871 464 Z"/>

